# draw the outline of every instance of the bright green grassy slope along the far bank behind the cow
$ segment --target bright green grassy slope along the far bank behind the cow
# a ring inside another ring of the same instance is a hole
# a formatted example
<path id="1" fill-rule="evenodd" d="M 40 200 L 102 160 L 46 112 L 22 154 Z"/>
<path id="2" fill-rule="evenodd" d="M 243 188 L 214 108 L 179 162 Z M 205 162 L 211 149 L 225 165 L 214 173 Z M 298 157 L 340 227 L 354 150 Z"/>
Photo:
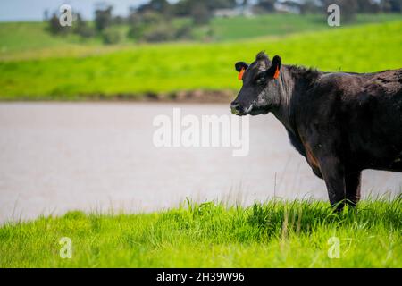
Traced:
<path id="1" fill-rule="evenodd" d="M 252 61 L 260 50 L 281 55 L 283 63 L 323 71 L 396 69 L 402 66 L 401 31 L 402 21 L 390 21 L 209 44 L 61 45 L 61 39 L 44 39 L 43 48 L 3 51 L 0 100 L 138 98 L 149 92 L 238 89 L 233 64 Z"/>

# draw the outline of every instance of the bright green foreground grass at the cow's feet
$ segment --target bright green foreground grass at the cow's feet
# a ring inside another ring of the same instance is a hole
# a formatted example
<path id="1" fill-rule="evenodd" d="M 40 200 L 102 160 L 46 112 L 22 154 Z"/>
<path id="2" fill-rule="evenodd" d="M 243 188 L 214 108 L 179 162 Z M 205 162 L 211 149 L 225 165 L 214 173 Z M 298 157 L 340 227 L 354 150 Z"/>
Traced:
<path id="1" fill-rule="evenodd" d="M 59 256 L 62 237 L 71 238 L 71 259 Z M 339 239 L 339 258 L 328 257 L 331 237 Z M 402 197 L 364 201 L 342 214 L 318 201 L 70 212 L 2 226 L 0 266 L 402 267 Z"/>

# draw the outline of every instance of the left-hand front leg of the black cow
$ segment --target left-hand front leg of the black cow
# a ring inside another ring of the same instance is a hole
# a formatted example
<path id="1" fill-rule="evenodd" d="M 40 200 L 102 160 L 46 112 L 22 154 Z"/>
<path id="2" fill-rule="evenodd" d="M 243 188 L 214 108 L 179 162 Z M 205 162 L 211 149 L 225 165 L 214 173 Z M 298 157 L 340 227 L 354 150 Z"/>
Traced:
<path id="1" fill-rule="evenodd" d="M 320 160 L 322 177 L 334 211 L 340 212 L 345 205 L 345 170 L 337 156 L 324 156 Z"/>

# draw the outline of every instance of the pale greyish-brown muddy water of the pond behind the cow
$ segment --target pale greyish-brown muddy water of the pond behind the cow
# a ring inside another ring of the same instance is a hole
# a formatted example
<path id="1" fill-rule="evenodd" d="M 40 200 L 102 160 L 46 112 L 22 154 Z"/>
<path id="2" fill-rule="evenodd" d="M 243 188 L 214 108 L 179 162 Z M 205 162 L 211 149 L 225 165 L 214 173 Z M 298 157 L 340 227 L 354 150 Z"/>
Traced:
<path id="1" fill-rule="evenodd" d="M 0 105 L 0 222 L 40 214 L 151 211 L 186 197 L 250 204 L 273 196 L 327 199 L 272 115 L 250 118 L 248 156 L 228 147 L 155 147 L 155 115 L 229 114 L 228 105 Z M 400 193 L 402 174 L 366 171 L 364 196 Z"/>

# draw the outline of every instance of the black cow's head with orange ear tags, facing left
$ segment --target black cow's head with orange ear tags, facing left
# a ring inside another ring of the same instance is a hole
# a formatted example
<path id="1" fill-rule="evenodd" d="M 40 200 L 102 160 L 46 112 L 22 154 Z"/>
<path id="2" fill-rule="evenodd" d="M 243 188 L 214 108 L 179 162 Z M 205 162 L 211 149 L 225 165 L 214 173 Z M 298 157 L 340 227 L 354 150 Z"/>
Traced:
<path id="1" fill-rule="evenodd" d="M 237 115 L 267 114 L 280 100 L 279 78 L 281 57 L 275 55 L 272 61 L 264 52 L 256 55 L 255 62 L 235 64 L 243 86 L 238 97 L 231 103 L 231 112 Z"/>

